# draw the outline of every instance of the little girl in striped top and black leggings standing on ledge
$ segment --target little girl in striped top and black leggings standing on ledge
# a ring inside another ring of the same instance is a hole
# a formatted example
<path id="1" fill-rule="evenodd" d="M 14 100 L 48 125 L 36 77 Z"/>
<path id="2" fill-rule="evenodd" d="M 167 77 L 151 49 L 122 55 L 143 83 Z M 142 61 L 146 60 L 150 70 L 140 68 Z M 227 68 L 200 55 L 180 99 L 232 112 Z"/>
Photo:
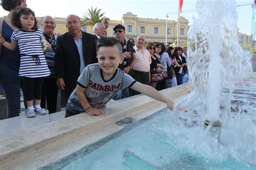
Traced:
<path id="1" fill-rule="evenodd" d="M 11 22 L 21 30 L 15 30 L 11 36 L 11 43 L 5 41 L 3 46 L 10 50 L 19 46 L 21 53 L 19 76 L 21 76 L 24 86 L 23 94 L 28 106 L 26 117 L 35 117 L 35 113 L 44 115 L 46 110 L 40 107 L 42 83 L 44 77 L 50 75 L 50 70 L 41 44 L 43 32 L 37 29 L 35 13 L 29 8 L 17 9 L 12 15 Z"/>

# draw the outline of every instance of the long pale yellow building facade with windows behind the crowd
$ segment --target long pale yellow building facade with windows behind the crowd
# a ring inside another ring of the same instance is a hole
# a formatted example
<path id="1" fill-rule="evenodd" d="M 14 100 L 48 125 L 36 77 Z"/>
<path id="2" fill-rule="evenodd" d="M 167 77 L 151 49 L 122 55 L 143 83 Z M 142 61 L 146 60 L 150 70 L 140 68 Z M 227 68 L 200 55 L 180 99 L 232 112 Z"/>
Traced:
<path id="1" fill-rule="evenodd" d="M 42 17 L 38 17 L 38 22 L 41 22 Z M 83 19 L 83 18 L 82 18 Z M 65 18 L 55 18 L 56 29 L 55 32 L 65 33 L 68 31 L 65 25 Z M 184 46 L 187 42 L 187 31 L 189 29 L 188 19 L 180 17 L 179 26 L 179 46 Z M 177 20 L 152 19 L 152 18 L 138 18 L 131 12 L 122 15 L 121 20 L 110 20 L 109 27 L 107 27 L 107 36 L 113 37 L 113 28 L 117 24 L 122 24 L 125 27 L 125 37 L 134 38 L 136 40 L 139 34 L 144 34 L 147 42 L 163 42 L 165 44 L 167 31 L 167 44 L 172 44 L 177 40 Z M 82 31 L 92 33 L 92 26 L 83 26 Z"/>

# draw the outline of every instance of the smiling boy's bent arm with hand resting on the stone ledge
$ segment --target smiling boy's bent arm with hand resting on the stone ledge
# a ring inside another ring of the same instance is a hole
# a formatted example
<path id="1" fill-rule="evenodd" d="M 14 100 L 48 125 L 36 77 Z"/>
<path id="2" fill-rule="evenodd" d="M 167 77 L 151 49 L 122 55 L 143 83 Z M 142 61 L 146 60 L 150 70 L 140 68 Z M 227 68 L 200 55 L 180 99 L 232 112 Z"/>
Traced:
<path id="1" fill-rule="evenodd" d="M 86 111 L 86 113 L 88 115 L 91 115 L 91 116 L 99 116 L 99 115 L 101 115 L 102 114 L 102 110 L 97 109 L 97 108 L 93 108 L 91 106 L 91 104 L 87 100 L 87 97 L 84 94 L 84 91 L 85 91 L 85 88 L 83 88 L 83 87 L 81 87 L 81 86 L 79 86 L 77 84 L 76 94 L 77 94 L 77 97 L 78 97 L 81 105 L 83 106 L 84 110 Z"/>

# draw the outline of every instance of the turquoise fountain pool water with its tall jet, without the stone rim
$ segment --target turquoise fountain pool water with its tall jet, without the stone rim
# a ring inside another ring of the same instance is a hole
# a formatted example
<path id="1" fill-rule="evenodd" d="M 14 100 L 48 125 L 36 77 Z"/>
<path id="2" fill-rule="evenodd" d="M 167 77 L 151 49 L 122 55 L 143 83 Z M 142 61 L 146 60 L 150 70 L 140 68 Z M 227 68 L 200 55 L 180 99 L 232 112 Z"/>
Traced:
<path id="1" fill-rule="evenodd" d="M 237 44 L 235 1 L 197 8 L 188 32 L 193 88 L 176 102 L 190 112 L 162 110 L 42 169 L 255 168 L 256 80 L 244 78 L 251 55 Z"/>

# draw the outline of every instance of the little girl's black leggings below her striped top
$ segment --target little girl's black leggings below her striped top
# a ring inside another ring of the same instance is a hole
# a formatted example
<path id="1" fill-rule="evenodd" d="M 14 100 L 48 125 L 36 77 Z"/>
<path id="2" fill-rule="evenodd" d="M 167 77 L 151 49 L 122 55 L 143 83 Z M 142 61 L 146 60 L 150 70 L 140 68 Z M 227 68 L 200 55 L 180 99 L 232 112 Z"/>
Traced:
<path id="1" fill-rule="evenodd" d="M 25 101 L 41 100 L 44 77 L 21 77 Z"/>

